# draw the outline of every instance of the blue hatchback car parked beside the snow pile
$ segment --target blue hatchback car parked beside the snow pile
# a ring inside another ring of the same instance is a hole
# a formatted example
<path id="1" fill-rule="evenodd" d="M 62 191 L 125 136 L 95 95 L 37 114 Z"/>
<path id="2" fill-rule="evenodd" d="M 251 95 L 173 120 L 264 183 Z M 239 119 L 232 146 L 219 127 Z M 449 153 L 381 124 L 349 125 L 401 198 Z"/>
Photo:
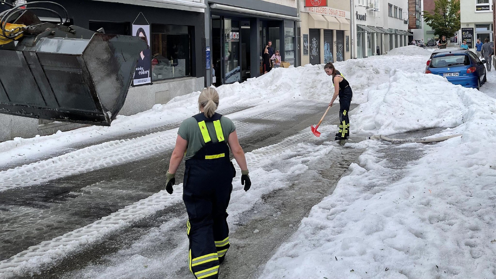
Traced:
<path id="1" fill-rule="evenodd" d="M 426 73 L 444 76 L 453 84 L 479 89 L 487 80 L 485 63 L 471 51 L 453 50 L 434 55 Z"/>

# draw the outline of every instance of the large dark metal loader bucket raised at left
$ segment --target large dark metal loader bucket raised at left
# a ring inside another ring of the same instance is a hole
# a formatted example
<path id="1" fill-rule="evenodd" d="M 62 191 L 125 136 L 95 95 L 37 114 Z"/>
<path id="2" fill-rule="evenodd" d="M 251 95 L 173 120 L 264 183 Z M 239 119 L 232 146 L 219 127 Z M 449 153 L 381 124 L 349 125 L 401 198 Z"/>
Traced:
<path id="1" fill-rule="evenodd" d="M 0 113 L 110 126 L 146 42 L 53 23 L 24 29 L 0 45 Z"/>

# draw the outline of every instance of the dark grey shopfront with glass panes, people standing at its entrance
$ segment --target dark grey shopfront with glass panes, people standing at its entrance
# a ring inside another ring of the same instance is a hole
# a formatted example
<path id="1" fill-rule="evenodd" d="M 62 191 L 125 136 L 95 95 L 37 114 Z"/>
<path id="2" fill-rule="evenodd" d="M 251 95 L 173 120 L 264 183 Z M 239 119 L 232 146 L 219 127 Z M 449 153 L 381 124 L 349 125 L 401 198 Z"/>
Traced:
<path id="1" fill-rule="evenodd" d="M 281 61 L 299 66 L 297 0 L 205 0 L 211 69 L 207 84 L 243 82 L 261 74 L 261 57 L 272 42 Z"/>

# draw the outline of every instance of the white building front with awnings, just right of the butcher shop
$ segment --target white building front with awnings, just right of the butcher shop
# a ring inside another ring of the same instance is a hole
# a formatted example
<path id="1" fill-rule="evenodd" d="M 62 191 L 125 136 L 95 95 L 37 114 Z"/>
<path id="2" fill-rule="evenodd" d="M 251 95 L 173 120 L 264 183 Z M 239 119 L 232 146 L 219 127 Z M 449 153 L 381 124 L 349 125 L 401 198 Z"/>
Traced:
<path id="1" fill-rule="evenodd" d="M 408 0 L 352 1 L 355 58 L 382 55 L 408 45 Z"/>

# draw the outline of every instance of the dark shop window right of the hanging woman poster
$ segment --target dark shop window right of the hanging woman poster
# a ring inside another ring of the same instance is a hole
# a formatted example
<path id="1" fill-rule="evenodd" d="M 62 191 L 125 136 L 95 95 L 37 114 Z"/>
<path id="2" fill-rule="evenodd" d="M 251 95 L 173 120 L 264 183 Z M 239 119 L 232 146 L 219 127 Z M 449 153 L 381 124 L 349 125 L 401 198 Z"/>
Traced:
<path id="1" fill-rule="evenodd" d="M 191 76 L 191 27 L 151 25 L 152 80 Z"/>

